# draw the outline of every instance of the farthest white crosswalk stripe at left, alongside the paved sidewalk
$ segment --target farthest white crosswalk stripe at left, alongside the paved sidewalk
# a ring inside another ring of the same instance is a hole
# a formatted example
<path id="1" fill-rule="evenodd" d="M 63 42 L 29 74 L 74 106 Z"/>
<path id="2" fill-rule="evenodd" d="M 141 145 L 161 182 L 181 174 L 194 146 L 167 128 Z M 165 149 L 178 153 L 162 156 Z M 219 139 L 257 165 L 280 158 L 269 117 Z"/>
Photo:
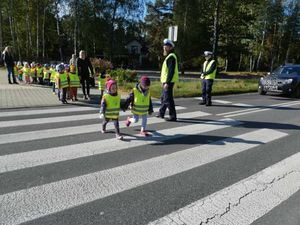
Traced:
<path id="1" fill-rule="evenodd" d="M 98 110 L 95 107 L 61 107 L 57 109 L 45 108 L 39 110 L 17 110 L 0 112 L 0 117 L 14 117 L 14 116 L 28 116 L 28 115 L 41 115 L 41 114 L 53 114 L 53 113 L 64 113 L 64 112 L 83 112 L 89 110 Z"/>

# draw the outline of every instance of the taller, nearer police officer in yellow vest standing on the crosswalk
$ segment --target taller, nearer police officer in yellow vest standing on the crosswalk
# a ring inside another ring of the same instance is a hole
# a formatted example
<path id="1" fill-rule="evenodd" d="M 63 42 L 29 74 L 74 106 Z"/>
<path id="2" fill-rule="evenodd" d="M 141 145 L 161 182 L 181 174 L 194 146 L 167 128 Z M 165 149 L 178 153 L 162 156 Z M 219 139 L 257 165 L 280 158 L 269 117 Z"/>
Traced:
<path id="1" fill-rule="evenodd" d="M 164 56 L 166 56 L 160 75 L 160 82 L 162 83 L 163 91 L 161 96 L 161 106 L 156 117 L 164 118 L 166 109 L 168 108 L 170 117 L 166 119 L 166 121 L 177 121 L 173 88 L 175 82 L 179 80 L 178 60 L 174 53 L 174 43 L 169 39 L 165 39 L 163 44 Z"/>

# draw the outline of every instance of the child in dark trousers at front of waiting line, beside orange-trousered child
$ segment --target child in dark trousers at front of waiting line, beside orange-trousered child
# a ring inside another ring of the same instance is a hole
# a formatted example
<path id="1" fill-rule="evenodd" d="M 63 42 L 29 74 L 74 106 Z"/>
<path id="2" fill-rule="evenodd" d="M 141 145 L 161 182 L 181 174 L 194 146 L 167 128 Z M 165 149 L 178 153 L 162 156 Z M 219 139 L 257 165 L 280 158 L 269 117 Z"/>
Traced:
<path id="1" fill-rule="evenodd" d="M 65 73 L 65 67 L 63 64 L 59 64 L 56 66 L 56 79 L 58 84 L 58 99 L 63 103 L 67 104 L 67 89 L 69 87 L 68 77 Z"/>

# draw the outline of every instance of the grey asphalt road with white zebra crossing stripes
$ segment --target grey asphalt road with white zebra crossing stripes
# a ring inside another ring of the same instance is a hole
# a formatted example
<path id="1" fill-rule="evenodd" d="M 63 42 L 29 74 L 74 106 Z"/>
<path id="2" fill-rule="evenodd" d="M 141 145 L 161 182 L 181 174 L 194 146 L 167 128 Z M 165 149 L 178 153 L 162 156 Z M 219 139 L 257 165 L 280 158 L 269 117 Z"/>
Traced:
<path id="1" fill-rule="evenodd" d="M 1 110 L 0 224 L 299 225 L 300 100 L 198 102 L 123 141 L 92 105 Z"/>

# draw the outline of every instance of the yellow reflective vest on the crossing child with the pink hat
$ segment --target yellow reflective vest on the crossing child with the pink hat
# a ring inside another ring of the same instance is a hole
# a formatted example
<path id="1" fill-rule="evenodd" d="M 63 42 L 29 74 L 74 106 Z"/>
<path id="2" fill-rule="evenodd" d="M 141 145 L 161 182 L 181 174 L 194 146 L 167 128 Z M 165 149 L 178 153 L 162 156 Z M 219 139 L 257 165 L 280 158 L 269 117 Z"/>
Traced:
<path id="1" fill-rule="evenodd" d="M 109 118 L 109 119 L 119 118 L 121 96 L 119 94 L 113 96 L 106 93 L 104 94 L 103 98 L 105 99 L 106 102 L 105 118 Z"/>

